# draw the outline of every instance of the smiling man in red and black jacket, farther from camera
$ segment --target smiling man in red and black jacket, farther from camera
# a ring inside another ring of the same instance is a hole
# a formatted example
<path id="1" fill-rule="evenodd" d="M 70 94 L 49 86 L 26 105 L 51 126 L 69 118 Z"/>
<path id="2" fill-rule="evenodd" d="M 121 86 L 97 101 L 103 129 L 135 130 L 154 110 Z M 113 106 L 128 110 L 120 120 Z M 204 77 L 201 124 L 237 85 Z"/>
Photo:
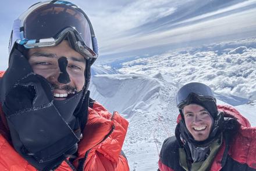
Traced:
<path id="1" fill-rule="evenodd" d="M 237 110 L 216 105 L 212 90 L 192 82 L 177 92 L 175 136 L 163 142 L 159 170 L 256 170 L 256 128 Z"/>

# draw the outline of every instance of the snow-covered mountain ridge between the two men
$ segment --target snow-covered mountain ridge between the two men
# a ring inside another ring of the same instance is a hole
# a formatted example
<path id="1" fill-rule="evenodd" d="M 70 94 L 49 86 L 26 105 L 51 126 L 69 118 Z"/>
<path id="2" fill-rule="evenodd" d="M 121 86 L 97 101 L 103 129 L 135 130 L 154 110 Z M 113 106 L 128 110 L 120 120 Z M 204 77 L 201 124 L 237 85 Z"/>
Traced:
<path id="1" fill-rule="evenodd" d="M 123 150 L 130 170 L 157 170 L 162 142 L 176 126 L 178 86 L 161 74 L 102 74 L 92 80 L 91 97 L 129 120 Z"/>

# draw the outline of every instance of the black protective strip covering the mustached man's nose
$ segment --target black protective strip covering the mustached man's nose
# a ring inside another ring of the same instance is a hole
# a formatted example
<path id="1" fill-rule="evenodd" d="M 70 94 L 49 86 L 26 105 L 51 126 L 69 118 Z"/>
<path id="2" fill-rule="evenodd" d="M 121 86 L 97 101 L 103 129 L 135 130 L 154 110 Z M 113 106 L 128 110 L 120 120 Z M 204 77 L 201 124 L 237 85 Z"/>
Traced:
<path id="1" fill-rule="evenodd" d="M 58 82 L 60 83 L 67 84 L 70 82 L 69 74 L 67 73 L 68 63 L 69 62 L 67 61 L 67 58 L 65 56 L 62 56 L 61 58 L 58 59 L 59 70 L 61 71 L 58 77 Z"/>

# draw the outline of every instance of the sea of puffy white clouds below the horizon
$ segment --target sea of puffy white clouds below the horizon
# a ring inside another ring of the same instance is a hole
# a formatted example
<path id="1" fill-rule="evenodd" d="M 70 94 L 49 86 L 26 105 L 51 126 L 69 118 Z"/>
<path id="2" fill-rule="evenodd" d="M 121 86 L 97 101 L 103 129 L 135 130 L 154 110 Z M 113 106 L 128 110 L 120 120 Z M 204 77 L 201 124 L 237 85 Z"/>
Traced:
<path id="1" fill-rule="evenodd" d="M 214 92 L 256 100 L 256 38 L 222 42 L 123 63 L 122 73 L 155 75 L 185 84 L 198 81 Z"/>

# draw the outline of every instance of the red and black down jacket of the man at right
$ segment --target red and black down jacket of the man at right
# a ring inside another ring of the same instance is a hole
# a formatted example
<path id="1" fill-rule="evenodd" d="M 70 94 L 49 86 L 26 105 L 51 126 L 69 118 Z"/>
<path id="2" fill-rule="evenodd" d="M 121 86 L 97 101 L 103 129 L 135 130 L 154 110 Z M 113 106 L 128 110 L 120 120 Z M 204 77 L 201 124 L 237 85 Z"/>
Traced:
<path id="1" fill-rule="evenodd" d="M 256 128 L 251 127 L 250 122 L 233 107 L 218 105 L 218 110 L 223 111 L 225 117 L 236 118 L 240 126 L 233 137 L 223 139 L 221 148 L 216 154 L 210 170 L 256 170 Z M 180 116 L 177 119 L 178 124 L 179 118 Z M 169 137 L 163 142 L 158 162 L 159 170 L 184 171 L 179 163 L 179 148 L 180 145 L 175 136 Z"/>

